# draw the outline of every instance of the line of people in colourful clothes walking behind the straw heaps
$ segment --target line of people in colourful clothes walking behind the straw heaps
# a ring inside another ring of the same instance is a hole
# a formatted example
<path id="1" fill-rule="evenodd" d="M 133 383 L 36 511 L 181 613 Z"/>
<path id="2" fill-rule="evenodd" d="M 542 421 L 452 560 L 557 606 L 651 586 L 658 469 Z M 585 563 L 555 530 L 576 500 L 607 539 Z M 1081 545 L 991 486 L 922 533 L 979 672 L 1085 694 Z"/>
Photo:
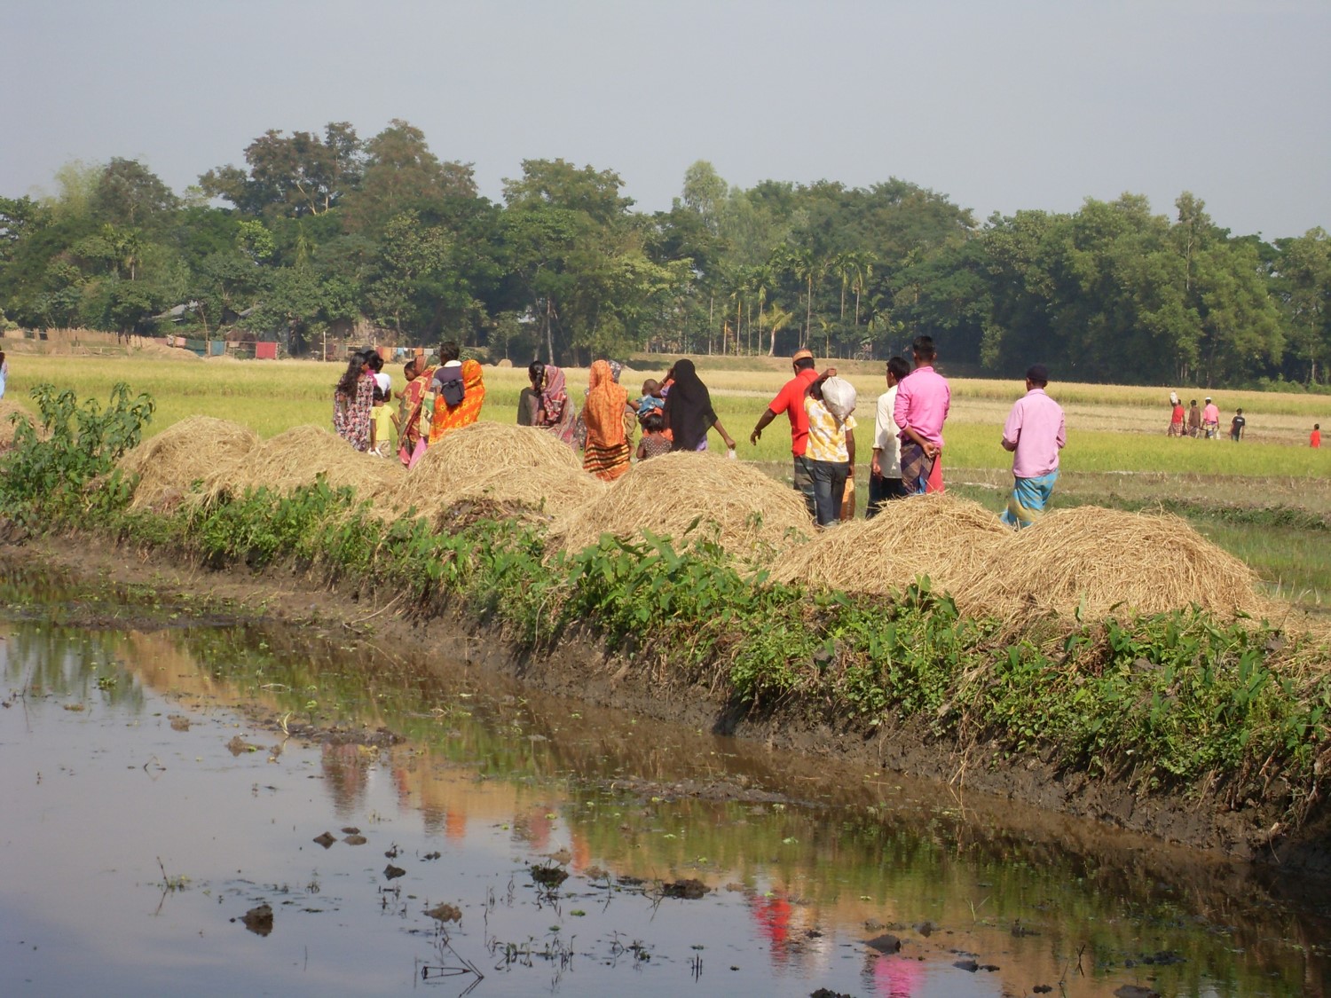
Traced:
<path id="1" fill-rule="evenodd" d="M 942 427 L 952 389 L 934 370 L 937 350 L 930 337 L 916 338 L 912 357 L 913 367 L 900 357 L 888 361 L 888 390 L 877 399 L 869 462 L 870 518 L 893 499 L 945 488 Z M 759 418 L 749 442 L 756 446 L 763 430 L 787 415 L 795 488 L 817 524 L 829 527 L 843 519 L 849 506 L 848 488 L 853 487 L 855 390 L 837 378 L 835 367 L 820 374 L 809 350 L 796 351 L 791 365 L 793 377 Z M 334 428 L 359 451 L 389 456 L 395 435 L 398 459 L 414 467 L 431 444 L 480 416 L 486 397 L 482 367 L 476 361 L 459 359 L 454 342 L 441 345 L 437 365 L 407 361 L 406 387 L 398 393 L 395 407 L 390 405 L 391 379 L 382 369 L 375 350 L 353 354 L 334 391 Z M 725 443 L 728 456 L 735 456 L 735 439 L 717 418 L 692 361 L 677 361 L 662 381 L 646 381 L 638 398 L 630 398 L 619 383 L 622 370 L 615 361 L 595 361 L 579 406 L 570 398 L 562 367 L 532 361 L 527 369 L 530 387 L 518 399 L 518 423 L 544 430 L 580 450 L 583 468 L 607 482 L 628 471 L 635 456 L 648 460 L 669 451 L 705 451 L 711 430 Z M 1026 394 L 1004 424 L 1001 443 L 1013 454 L 1014 484 L 1002 519 L 1017 528 L 1044 514 L 1058 479 L 1058 451 L 1066 443 L 1063 411 L 1045 393 L 1047 382 L 1042 365 L 1030 367 Z"/>

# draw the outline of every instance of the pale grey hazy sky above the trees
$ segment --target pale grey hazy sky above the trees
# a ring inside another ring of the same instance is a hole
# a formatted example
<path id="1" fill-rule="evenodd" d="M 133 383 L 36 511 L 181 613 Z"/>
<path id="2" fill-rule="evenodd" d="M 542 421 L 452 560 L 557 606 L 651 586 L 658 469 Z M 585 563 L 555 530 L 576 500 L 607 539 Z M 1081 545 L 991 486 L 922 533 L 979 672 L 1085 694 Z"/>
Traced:
<path id="1" fill-rule="evenodd" d="M 270 128 L 405 118 L 492 198 L 563 157 L 664 209 L 709 160 L 977 220 L 1191 190 L 1235 234 L 1331 229 L 1328 0 L 0 0 L 0 39 L 8 197 L 113 156 L 180 192 Z"/>

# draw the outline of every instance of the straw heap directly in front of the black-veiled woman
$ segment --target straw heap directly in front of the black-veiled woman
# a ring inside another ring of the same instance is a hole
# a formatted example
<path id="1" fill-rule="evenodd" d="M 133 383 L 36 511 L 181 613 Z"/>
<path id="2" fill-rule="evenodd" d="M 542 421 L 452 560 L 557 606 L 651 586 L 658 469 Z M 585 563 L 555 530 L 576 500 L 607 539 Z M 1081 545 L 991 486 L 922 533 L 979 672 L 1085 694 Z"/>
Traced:
<path id="1" fill-rule="evenodd" d="M 595 544 L 602 534 L 631 539 L 644 530 L 679 542 L 693 520 L 733 555 L 803 543 L 813 526 L 799 492 L 757 468 L 711 454 L 675 452 L 635 464 L 606 494 L 551 527 L 568 551 Z"/>

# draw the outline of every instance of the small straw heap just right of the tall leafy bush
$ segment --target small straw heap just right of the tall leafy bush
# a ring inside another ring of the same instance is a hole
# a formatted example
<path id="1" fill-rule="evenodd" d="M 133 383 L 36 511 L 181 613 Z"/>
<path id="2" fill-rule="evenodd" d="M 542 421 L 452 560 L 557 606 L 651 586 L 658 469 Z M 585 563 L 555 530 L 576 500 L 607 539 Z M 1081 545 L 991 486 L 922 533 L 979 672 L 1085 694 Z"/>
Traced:
<path id="1" fill-rule="evenodd" d="M 132 508 L 174 504 L 209 475 L 236 464 L 258 446 L 249 427 L 213 416 L 189 416 L 144 440 L 120 459 L 122 471 L 138 475 Z"/>

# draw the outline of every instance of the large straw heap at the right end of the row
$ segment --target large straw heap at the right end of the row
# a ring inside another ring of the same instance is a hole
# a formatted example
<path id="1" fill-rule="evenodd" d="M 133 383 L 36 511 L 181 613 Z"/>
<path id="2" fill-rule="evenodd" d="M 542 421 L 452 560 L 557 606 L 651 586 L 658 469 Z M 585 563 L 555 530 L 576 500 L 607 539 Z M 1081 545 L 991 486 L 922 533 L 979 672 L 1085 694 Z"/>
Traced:
<path id="1" fill-rule="evenodd" d="M 1057 510 L 1014 538 L 988 585 L 1005 615 L 1102 619 L 1111 609 L 1167 613 L 1198 604 L 1218 617 L 1270 613 L 1252 570 L 1177 516 L 1095 506 Z"/>

